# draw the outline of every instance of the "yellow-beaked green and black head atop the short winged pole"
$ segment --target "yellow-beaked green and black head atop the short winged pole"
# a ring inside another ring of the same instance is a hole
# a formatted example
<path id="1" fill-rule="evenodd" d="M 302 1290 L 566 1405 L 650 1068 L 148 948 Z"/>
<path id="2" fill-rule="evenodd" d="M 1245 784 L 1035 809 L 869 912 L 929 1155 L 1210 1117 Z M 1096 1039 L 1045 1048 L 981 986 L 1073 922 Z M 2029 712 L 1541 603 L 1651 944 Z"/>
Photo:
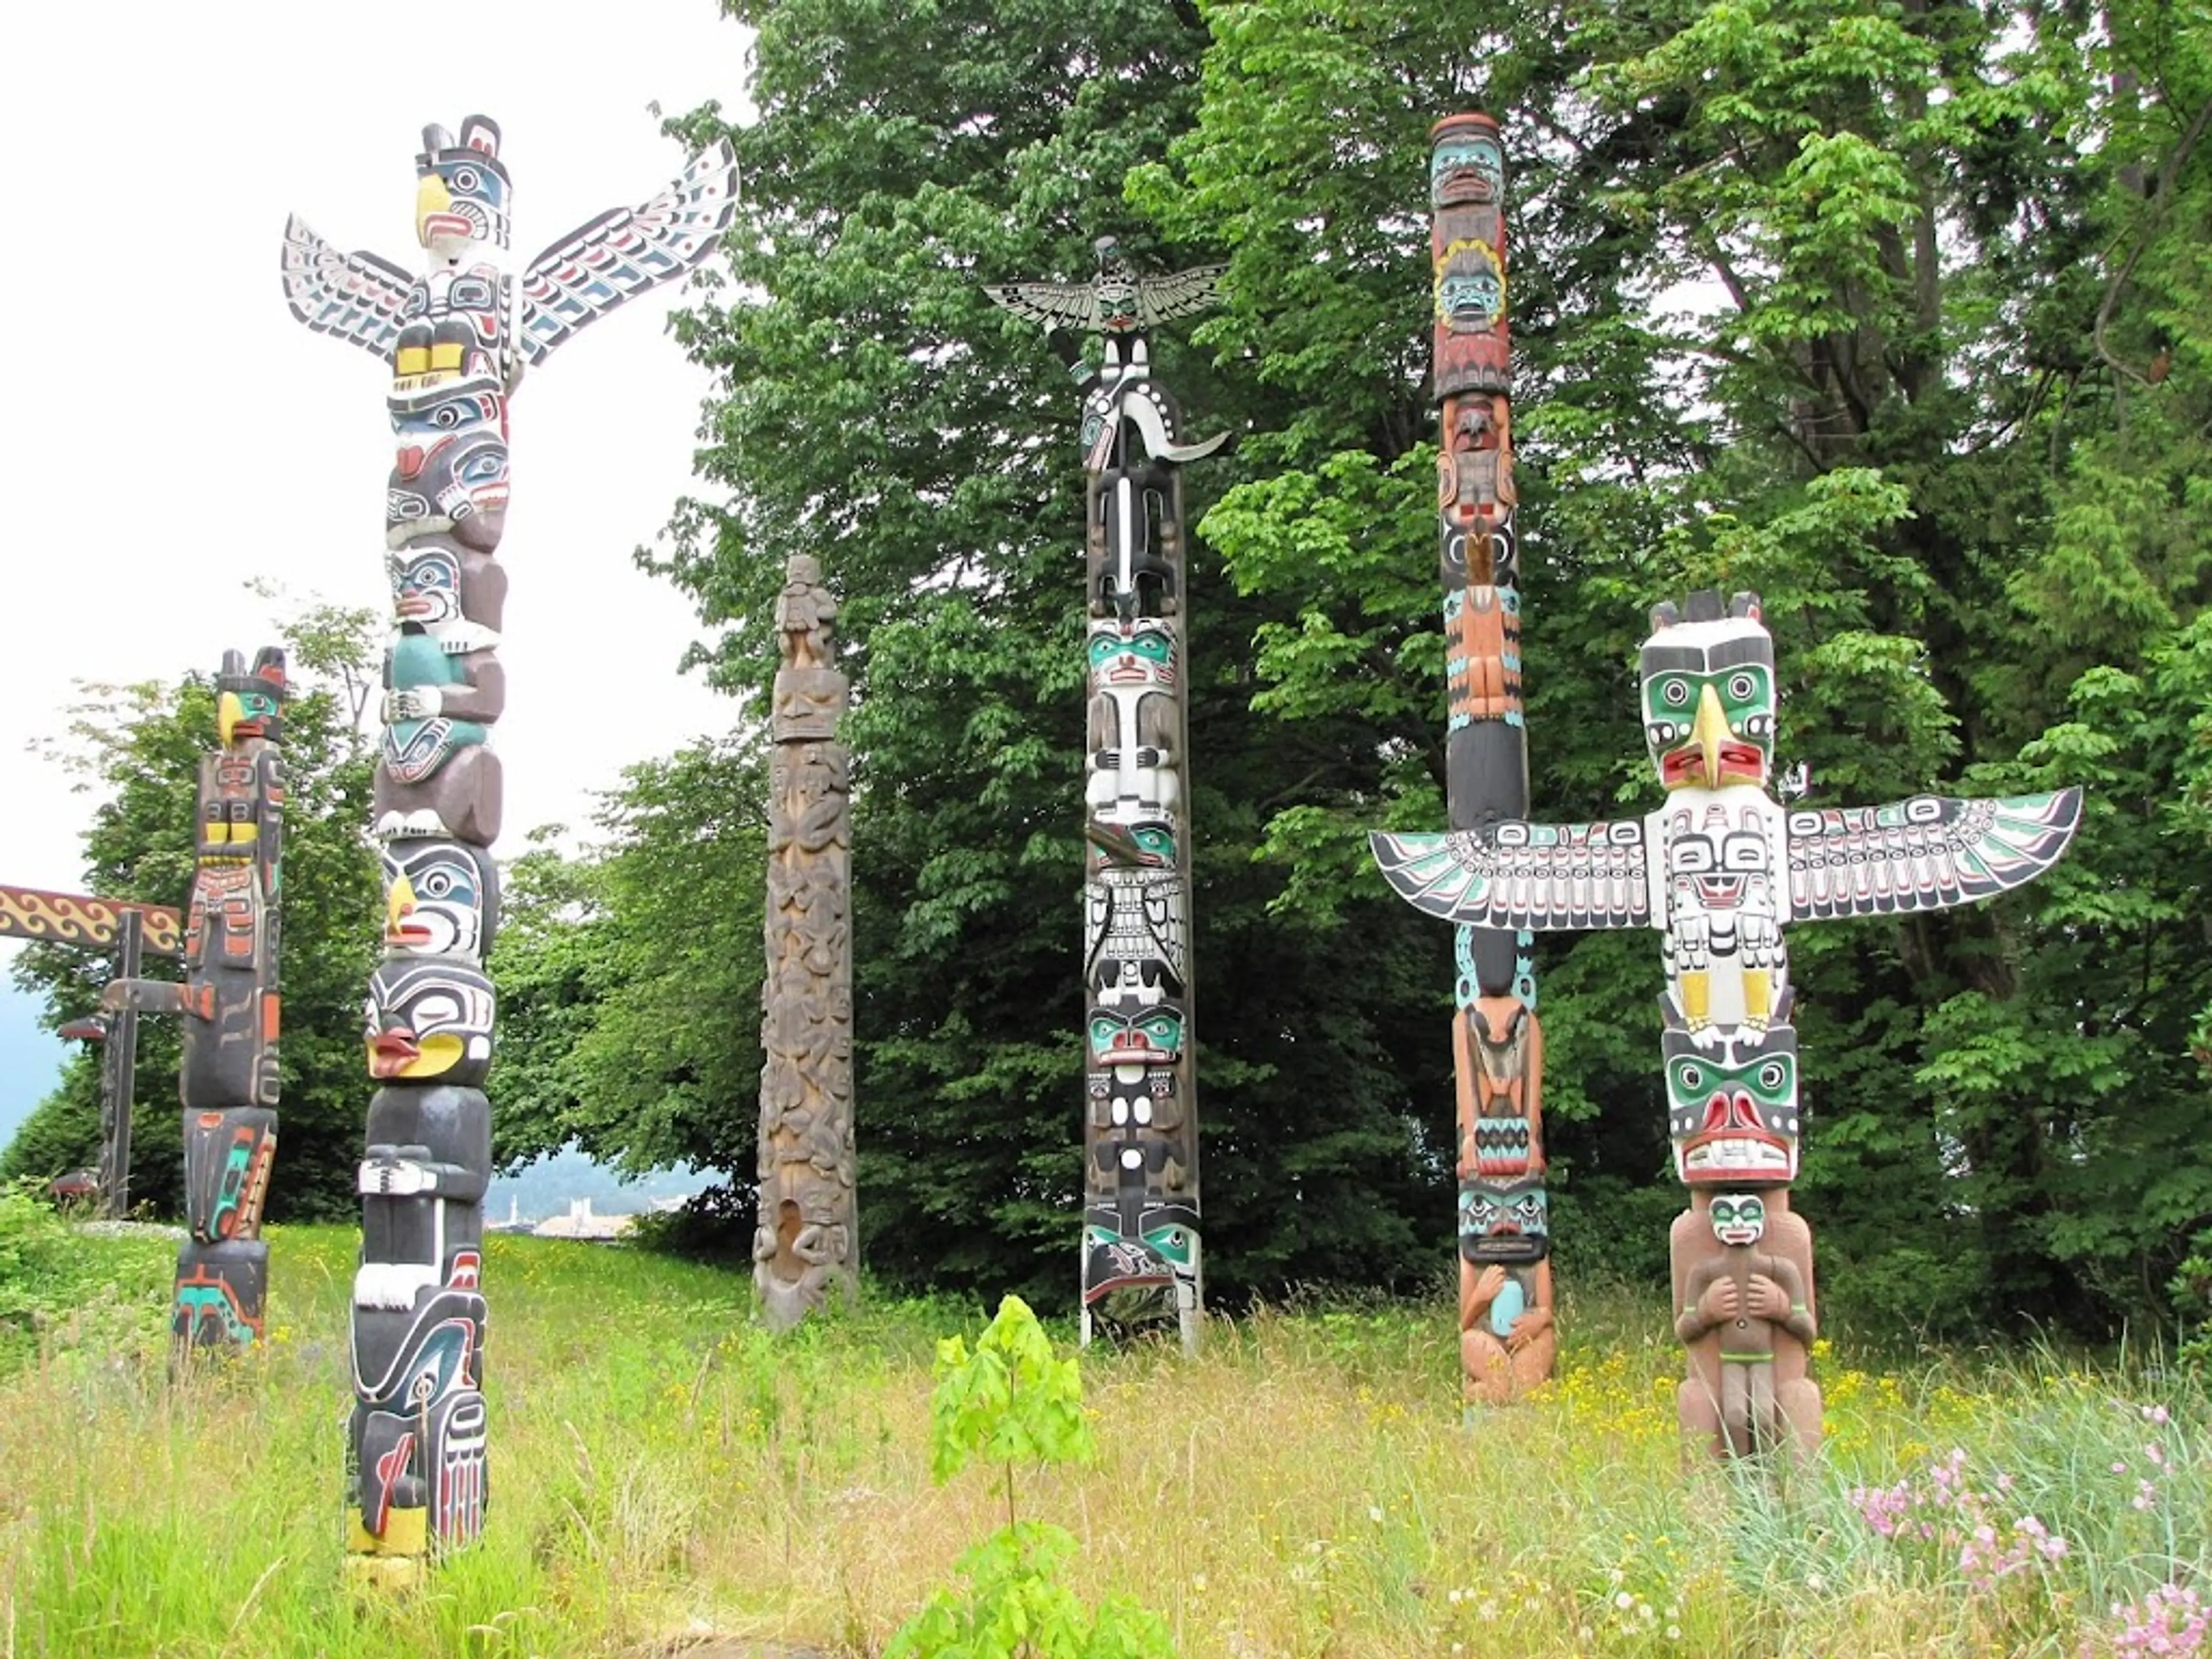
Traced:
<path id="1" fill-rule="evenodd" d="M 1774 763 L 1774 639 L 1759 617 L 1661 628 L 1644 641 L 1644 745 L 1668 790 L 1765 787 Z"/>

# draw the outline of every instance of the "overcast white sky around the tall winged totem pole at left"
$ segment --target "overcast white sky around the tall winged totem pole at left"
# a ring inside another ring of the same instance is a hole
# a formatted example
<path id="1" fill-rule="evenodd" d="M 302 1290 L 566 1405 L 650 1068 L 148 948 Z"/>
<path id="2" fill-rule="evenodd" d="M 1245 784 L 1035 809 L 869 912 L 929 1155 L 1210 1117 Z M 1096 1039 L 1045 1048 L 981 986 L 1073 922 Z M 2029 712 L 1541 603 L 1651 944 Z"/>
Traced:
<path id="1" fill-rule="evenodd" d="M 292 321 L 285 215 L 416 270 L 420 128 L 482 111 L 504 133 L 520 270 L 677 175 L 648 104 L 737 111 L 750 35 L 712 0 L 119 0 L 15 7 L 0 40 L 20 181 L 0 232 L 15 387 L 0 880 L 77 891 L 86 801 L 27 750 L 60 728 L 71 681 L 252 650 L 268 615 L 239 584 L 257 575 L 389 606 L 385 369 Z M 708 389 L 661 332 L 670 303 L 602 319 L 515 394 L 507 856 L 538 823 L 582 825 L 624 763 L 730 723 L 675 672 L 688 602 L 630 566 L 692 487 Z"/>

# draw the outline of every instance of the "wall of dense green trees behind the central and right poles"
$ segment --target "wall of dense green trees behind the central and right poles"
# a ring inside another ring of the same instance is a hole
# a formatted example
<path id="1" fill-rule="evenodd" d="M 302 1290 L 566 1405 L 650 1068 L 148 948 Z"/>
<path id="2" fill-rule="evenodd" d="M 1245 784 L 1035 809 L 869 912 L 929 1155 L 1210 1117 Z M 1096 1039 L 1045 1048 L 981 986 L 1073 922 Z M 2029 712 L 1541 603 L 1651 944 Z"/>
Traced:
<path id="1" fill-rule="evenodd" d="M 1082 276 L 1102 232 L 1155 268 L 1230 261 L 1223 310 L 1155 341 L 1197 429 L 1241 434 L 1188 476 L 1208 1281 L 1442 1261 L 1447 940 L 1358 836 L 1442 823 L 1422 179 L 1429 122 L 1482 104 L 1513 166 L 1537 814 L 1648 810 L 1632 653 L 1690 586 L 1765 595 L 1807 803 L 2084 783 L 2037 887 L 1794 929 L 1801 1208 L 1863 1318 L 2172 1312 L 2212 1219 L 2201 9 L 730 11 L 759 29 L 759 119 L 675 124 L 730 131 L 745 168 L 739 285 L 681 327 L 721 376 L 721 493 L 661 568 L 750 710 L 785 555 L 845 599 L 880 1272 L 1046 1303 L 1075 1279 L 1073 398 L 980 283 Z M 633 801 L 706 827 L 706 776 L 653 803 L 677 781 Z M 639 1040 L 637 1004 L 630 1037 L 595 1006 L 650 991 L 666 940 L 752 956 L 752 889 L 732 863 L 701 891 L 708 856 L 644 856 L 593 900 L 650 949 L 571 1000 L 577 1031 Z M 1648 938 L 1542 951 L 1568 1274 L 1661 1272 L 1657 982 Z M 584 1113 L 586 1144 L 659 1155 L 648 1099 L 686 1099 L 675 1144 L 714 1146 L 743 1210 L 748 1015 Z"/>

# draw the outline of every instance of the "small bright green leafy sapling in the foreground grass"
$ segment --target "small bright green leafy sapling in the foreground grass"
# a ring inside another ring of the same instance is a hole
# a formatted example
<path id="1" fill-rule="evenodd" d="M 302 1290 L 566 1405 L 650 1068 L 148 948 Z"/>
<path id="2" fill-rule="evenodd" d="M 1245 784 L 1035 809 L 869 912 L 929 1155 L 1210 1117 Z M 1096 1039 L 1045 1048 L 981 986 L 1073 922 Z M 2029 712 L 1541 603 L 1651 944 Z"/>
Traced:
<path id="1" fill-rule="evenodd" d="M 973 1354 L 958 1336 L 940 1340 L 936 1380 L 929 1473 L 942 1486 L 969 1458 L 998 1464 L 1006 1524 L 956 1562 L 964 1588 L 931 1595 L 885 1659 L 1170 1659 L 1175 1639 L 1155 1613 L 1119 1595 L 1086 1608 L 1060 1582 L 1075 1535 L 1018 1509 L 1020 1467 L 1079 1464 L 1095 1451 L 1082 1371 L 1053 1356 L 1029 1303 L 1006 1296 Z"/>

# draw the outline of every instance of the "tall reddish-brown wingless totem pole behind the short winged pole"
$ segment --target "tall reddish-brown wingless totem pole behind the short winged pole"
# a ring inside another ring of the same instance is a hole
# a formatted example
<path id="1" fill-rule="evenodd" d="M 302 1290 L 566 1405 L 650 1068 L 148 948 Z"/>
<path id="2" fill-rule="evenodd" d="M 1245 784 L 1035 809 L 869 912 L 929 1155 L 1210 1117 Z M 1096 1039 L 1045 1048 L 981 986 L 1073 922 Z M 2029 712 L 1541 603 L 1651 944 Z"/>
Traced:
<path id="1" fill-rule="evenodd" d="M 1504 192 L 1498 122 L 1438 122 L 1429 133 L 1431 396 L 1440 414 L 1444 803 L 1453 830 L 1528 814 Z M 1528 933 L 1469 922 L 1453 933 L 1460 1389 L 1469 1405 L 1506 1405 L 1551 1376 L 1559 1343 L 1544 1192 L 1544 1033 Z"/>

